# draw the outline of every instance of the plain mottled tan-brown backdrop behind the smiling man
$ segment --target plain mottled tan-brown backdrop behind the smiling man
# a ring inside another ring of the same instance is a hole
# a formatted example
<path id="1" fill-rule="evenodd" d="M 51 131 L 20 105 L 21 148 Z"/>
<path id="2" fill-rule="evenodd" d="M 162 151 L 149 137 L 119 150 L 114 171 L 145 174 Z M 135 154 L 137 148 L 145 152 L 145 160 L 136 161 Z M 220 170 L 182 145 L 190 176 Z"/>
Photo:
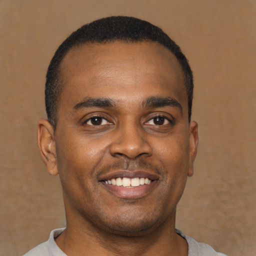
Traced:
<path id="1" fill-rule="evenodd" d="M 65 223 L 36 144 L 45 72 L 69 33 L 107 15 L 160 26 L 194 72 L 199 150 L 176 226 L 229 256 L 256 255 L 255 11 L 255 0 L 0 0 L 0 255 Z"/>

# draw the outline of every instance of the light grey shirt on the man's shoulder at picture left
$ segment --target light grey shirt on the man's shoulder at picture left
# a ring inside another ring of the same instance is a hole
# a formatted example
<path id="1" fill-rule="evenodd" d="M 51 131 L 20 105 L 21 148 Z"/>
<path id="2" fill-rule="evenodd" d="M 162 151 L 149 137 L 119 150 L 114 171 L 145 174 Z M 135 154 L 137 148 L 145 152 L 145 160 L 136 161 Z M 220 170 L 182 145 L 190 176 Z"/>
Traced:
<path id="1" fill-rule="evenodd" d="M 58 236 L 65 228 L 53 229 L 50 232 L 49 239 L 36 247 L 26 252 L 23 256 L 66 256 L 66 254 L 59 249 L 54 241 L 54 237 Z"/>

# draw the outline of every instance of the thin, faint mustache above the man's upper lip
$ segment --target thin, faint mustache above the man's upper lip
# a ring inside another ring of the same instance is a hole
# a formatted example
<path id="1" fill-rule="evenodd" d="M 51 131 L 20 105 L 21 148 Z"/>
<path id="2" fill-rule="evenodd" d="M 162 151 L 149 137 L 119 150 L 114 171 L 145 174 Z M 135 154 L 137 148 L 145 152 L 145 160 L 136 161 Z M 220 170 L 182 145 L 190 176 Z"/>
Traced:
<path id="1" fill-rule="evenodd" d="M 105 164 L 97 169 L 97 173 L 105 174 L 110 170 L 123 169 L 123 170 L 135 170 L 135 169 L 150 169 L 156 173 L 162 172 L 162 167 L 156 164 L 152 164 L 144 159 L 130 160 L 130 159 L 119 159 L 109 164 Z"/>

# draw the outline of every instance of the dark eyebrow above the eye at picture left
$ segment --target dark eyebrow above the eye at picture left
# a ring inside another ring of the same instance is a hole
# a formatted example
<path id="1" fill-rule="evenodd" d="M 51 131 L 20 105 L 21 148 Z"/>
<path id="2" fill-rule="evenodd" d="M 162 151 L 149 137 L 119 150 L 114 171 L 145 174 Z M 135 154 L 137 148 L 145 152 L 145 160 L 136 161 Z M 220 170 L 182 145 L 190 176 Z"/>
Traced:
<path id="1" fill-rule="evenodd" d="M 81 102 L 74 105 L 74 109 L 78 110 L 79 108 L 86 107 L 114 107 L 115 103 L 109 98 L 90 98 L 85 97 Z"/>

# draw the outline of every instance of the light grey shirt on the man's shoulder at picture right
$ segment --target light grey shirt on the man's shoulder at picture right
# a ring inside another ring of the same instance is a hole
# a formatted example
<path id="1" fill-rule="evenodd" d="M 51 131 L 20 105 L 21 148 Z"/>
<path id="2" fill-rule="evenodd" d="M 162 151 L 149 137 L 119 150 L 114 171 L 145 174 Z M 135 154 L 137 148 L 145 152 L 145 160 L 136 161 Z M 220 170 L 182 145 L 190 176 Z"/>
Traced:
<path id="1" fill-rule="evenodd" d="M 197 242 L 192 237 L 183 234 L 178 229 L 176 229 L 176 233 L 186 239 L 188 244 L 188 256 L 226 256 L 221 252 L 215 251 L 210 245 L 206 243 Z"/>

